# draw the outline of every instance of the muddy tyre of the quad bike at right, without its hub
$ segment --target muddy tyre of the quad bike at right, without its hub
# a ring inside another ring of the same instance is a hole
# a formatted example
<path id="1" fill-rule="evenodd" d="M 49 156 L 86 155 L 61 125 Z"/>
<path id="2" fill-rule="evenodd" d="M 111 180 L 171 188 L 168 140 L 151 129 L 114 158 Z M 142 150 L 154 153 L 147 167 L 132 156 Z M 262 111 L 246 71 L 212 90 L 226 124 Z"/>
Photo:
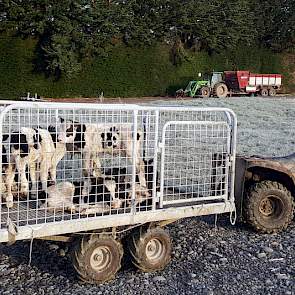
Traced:
<path id="1" fill-rule="evenodd" d="M 276 196 L 279 200 L 281 212 L 279 215 L 263 216 L 259 211 L 260 202 L 268 195 Z M 261 233 L 275 233 L 288 227 L 293 219 L 293 198 L 286 187 L 278 182 L 262 181 L 251 186 L 244 198 L 244 217 L 256 231 Z"/>

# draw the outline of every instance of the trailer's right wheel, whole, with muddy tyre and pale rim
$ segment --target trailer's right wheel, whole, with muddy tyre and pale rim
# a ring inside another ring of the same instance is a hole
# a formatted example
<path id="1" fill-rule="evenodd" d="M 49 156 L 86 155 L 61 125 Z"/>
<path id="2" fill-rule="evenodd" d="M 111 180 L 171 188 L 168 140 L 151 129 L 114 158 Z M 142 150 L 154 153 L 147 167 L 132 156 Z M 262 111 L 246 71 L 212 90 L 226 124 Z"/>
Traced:
<path id="1" fill-rule="evenodd" d="M 144 272 L 164 269 L 171 260 L 171 239 L 162 228 L 140 228 L 130 239 L 132 263 Z"/>

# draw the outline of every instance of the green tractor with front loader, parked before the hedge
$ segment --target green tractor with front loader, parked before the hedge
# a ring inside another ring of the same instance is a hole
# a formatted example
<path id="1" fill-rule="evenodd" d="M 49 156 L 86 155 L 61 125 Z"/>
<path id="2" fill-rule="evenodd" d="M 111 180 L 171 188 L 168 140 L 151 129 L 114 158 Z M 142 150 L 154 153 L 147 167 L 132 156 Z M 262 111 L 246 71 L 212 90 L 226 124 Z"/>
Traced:
<path id="1" fill-rule="evenodd" d="M 184 90 L 177 90 L 176 97 L 202 96 L 203 98 L 208 98 L 211 94 L 220 92 L 218 91 L 218 87 L 221 86 L 220 83 L 223 82 L 223 72 L 212 72 L 211 74 L 206 74 L 204 79 L 201 79 L 201 73 L 199 73 L 198 76 L 199 79 L 190 81 Z"/>

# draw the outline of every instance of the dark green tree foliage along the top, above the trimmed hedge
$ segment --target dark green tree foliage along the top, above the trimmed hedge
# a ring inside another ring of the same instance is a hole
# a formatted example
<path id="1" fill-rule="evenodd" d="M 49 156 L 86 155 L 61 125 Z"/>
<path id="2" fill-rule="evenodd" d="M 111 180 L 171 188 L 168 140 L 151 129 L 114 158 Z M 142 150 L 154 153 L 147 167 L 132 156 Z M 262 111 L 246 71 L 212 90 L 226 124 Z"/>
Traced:
<path id="1" fill-rule="evenodd" d="M 0 30 L 35 37 L 35 70 L 60 78 L 117 43 L 166 43 L 174 64 L 187 48 L 213 54 L 258 43 L 286 50 L 294 45 L 294 11 L 294 0 L 2 0 Z"/>

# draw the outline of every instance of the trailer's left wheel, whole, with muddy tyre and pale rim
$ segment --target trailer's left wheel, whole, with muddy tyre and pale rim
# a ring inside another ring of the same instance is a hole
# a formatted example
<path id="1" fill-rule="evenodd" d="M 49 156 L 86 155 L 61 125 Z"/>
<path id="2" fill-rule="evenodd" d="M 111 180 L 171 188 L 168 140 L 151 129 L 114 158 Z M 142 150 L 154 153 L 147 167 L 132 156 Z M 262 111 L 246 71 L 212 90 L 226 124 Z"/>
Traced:
<path id="1" fill-rule="evenodd" d="M 121 268 L 123 247 L 111 236 L 84 236 L 75 246 L 73 265 L 82 281 L 104 283 Z"/>

